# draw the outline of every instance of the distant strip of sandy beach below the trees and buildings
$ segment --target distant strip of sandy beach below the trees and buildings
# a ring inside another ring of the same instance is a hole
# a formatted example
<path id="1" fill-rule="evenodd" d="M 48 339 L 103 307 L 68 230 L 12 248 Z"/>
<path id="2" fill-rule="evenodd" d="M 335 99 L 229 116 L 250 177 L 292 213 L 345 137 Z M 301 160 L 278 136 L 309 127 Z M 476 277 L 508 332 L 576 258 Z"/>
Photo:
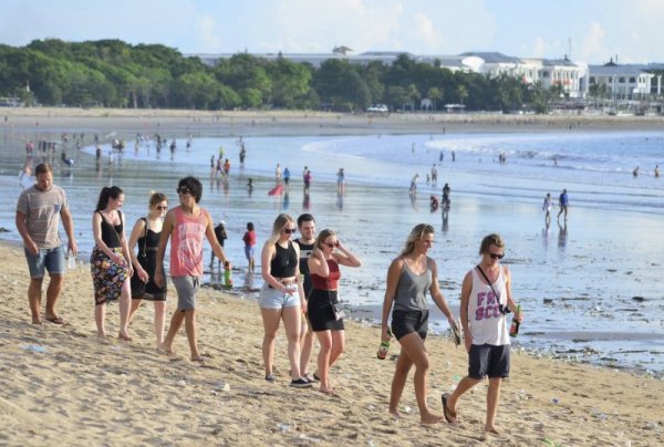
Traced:
<path id="1" fill-rule="evenodd" d="M 284 136 L 662 129 L 664 116 L 447 113 L 340 114 L 317 111 L 207 112 L 39 107 L 0 108 L 2 127 L 19 133 L 136 132 L 183 136 Z M 1 128 L 1 127 L 0 127 Z"/>

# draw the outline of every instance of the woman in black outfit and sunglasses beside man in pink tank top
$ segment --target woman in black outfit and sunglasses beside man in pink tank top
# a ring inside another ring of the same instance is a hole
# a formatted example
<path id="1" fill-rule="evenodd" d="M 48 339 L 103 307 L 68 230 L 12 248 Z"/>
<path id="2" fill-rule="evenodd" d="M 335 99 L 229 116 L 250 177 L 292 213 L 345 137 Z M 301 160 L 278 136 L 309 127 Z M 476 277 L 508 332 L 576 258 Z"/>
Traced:
<path id="1" fill-rule="evenodd" d="M 132 254 L 132 264 L 134 266 L 129 320 L 134 316 L 143 300 L 153 301 L 155 303 L 155 334 L 157 347 L 164 342 L 166 285 L 164 284 L 162 288 L 156 285 L 154 276 L 157 267 L 157 246 L 159 245 L 159 236 L 162 233 L 162 225 L 166 211 L 168 211 L 168 199 L 166 195 L 154 193 L 149 198 L 149 212 L 147 214 L 147 217 L 142 217 L 136 220 L 134 229 L 132 230 L 132 236 L 129 237 L 129 251 Z M 138 246 L 137 250 L 134 250 L 135 246 Z M 135 284 L 141 281 L 145 283 L 145 291 L 136 294 Z"/>

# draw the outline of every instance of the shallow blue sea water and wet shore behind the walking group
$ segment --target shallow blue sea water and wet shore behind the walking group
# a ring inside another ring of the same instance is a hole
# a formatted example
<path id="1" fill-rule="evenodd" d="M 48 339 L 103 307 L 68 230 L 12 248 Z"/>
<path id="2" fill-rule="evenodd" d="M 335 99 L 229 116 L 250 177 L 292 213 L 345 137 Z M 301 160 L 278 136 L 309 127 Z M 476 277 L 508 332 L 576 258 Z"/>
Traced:
<path id="1" fill-rule="evenodd" d="M 371 320 L 380 312 L 387 267 L 414 225 L 438 229 L 430 254 L 457 312 L 460 282 L 478 261 L 479 241 L 497 231 L 507 243 L 504 263 L 512 271 L 515 298 L 526 312 L 515 344 L 542 355 L 664 374 L 664 289 L 657 285 L 664 271 L 664 178 L 653 175 L 655 165 L 664 166 L 664 133 L 251 137 L 245 138 L 243 166 L 237 138 L 195 138 L 189 149 L 185 143 L 178 139 L 172 156 L 167 148 L 157 154 L 154 143 L 128 142 L 113 164 L 108 145 L 98 164 L 91 146 L 68 149 L 76 162 L 72 168 L 56 164 L 55 183 L 70 196 L 82 258 L 92 249 L 90 220 L 102 186 L 125 190 L 125 214 L 133 222 L 151 190 L 175 200 L 177 179 L 196 175 L 204 183 L 201 205 L 216 221 L 227 221 L 234 292 L 251 298 L 261 284 L 260 276 L 243 271 L 246 222 L 255 222 L 260 249 L 278 212 L 309 211 L 319 230 L 334 229 L 362 258 L 362 268 L 342 271 L 340 295 L 354 316 Z M 231 162 L 227 180 L 210 176 L 209 159 L 220 145 Z M 505 164 L 498 163 L 499 154 Z M 0 163 L 0 185 L 9 193 L 0 200 L 0 226 L 10 230 L 24 160 L 24 153 L 14 150 L 3 152 Z M 278 163 L 291 171 L 290 190 L 269 197 Z M 433 164 L 436 186 L 425 179 Z M 309 196 L 302 190 L 304 166 L 313 174 Z M 347 185 L 343 196 L 335 185 L 341 167 Z M 411 196 L 415 174 L 417 194 Z M 248 178 L 255 181 L 251 193 Z M 446 220 L 429 210 L 430 195 L 439 197 L 445 183 L 452 187 Z M 546 226 L 543 197 L 550 193 L 557 200 L 563 188 L 569 219 L 557 221 L 556 209 Z M 15 231 L 1 236 L 18 240 Z M 206 281 L 219 281 L 214 269 Z M 434 313 L 433 332 L 447 330 L 442 320 Z"/>

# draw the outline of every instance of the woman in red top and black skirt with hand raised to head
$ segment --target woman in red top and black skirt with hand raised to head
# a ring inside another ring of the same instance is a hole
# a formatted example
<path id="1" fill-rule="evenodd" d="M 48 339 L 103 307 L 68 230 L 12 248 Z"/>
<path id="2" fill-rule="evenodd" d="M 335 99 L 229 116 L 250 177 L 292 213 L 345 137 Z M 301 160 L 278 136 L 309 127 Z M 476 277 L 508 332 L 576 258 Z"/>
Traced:
<path id="1" fill-rule="evenodd" d="M 318 374 L 314 374 L 314 377 L 321 381 L 319 391 L 328 394 L 334 394 L 329 381 L 330 366 L 339 358 L 344 346 L 343 314 L 340 312 L 336 294 L 336 284 L 341 277 L 340 264 L 360 267 L 362 262 L 341 245 L 334 231 L 321 231 L 309 258 L 313 290 L 309 298 L 308 313 L 311 329 L 321 345 Z"/>

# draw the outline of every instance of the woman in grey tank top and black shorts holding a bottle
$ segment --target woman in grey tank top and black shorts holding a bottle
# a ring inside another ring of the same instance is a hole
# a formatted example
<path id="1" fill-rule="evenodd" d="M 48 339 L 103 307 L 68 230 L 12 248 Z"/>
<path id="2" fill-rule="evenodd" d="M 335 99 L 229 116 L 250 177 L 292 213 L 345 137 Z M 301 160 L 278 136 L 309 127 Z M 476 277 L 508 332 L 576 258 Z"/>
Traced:
<path id="1" fill-rule="evenodd" d="M 424 347 L 428 324 L 428 303 L 426 293 L 430 293 L 436 305 L 443 311 L 452 326 L 456 325 L 454 315 L 438 288 L 436 261 L 428 257 L 434 245 L 434 227 L 416 225 L 401 254 L 392 261 L 387 271 L 387 289 L 383 302 L 381 341 L 390 341 L 387 318 L 392 313 L 392 332 L 401 344 L 396 370 L 392 378 L 390 393 L 390 413 L 401 417 L 401 399 L 408 372 L 415 365 L 415 397 L 419 408 L 422 424 L 436 424 L 443 416 L 429 412 L 426 404 L 429 358 Z"/>

